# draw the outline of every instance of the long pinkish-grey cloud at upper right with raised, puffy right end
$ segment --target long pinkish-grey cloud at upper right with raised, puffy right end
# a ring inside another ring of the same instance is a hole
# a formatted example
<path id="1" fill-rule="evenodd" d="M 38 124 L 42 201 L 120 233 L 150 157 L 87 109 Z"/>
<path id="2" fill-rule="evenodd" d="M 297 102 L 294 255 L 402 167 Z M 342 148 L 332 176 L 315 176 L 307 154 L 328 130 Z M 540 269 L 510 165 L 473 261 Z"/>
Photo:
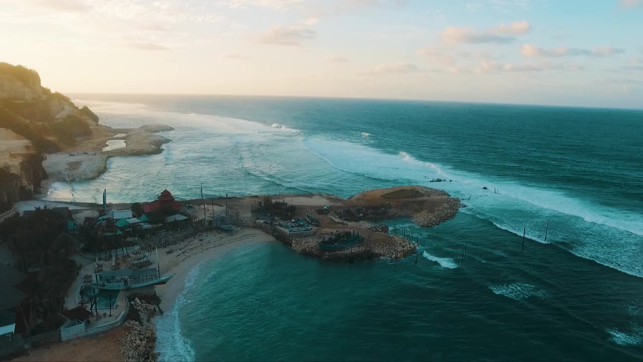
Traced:
<path id="1" fill-rule="evenodd" d="M 500 24 L 487 30 L 473 30 L 448 26 L 442 32 L 442 41 L 446 44 L 509 44 L 516 41 L 514 35 L 529 33 L 531 24 L 518 21 L 511 24 Z"/>

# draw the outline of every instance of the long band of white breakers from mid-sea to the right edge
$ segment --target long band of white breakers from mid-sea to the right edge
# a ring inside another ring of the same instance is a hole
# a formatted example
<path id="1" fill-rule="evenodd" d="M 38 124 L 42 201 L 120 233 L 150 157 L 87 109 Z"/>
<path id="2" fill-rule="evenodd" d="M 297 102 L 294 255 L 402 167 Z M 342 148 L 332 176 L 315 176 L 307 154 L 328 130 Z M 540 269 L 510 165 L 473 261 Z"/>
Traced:
<path id="1" fill-rule="evenodd" d="M 580 200 L 563 191 L 458 171 L 418 160 L 406 152 L 392 155 L 361 144 L 325 138 L 307 138 L 302 140 L 302 146 L 343 171 L 444 189 L 464 199 L 468 206 L 464 212 L 520 236 L 523 227 L 527 227 L 526 235 L 531 240 L 544 242 L 549 219 L 548 243 L 565 242 L 561 246 L 576 256 L 643 276 L 639 246 L 643 242 L 643 214 Z M 428 182 L 436 177 L 453 182 Z M 494 188 L 500 193 L 494 193 Z"/>

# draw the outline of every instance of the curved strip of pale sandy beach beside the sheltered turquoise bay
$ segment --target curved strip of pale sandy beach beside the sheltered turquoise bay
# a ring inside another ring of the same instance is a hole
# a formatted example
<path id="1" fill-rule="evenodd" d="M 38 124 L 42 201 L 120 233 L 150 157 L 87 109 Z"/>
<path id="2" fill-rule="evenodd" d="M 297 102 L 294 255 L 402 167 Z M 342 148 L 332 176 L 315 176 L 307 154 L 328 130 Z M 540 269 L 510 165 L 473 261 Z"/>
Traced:
<path id="1" fill-rule="evenodd" d="M 277 241 L 256 229 L 240 229 L 233 234 L 222 231 L 196 234 L 194 238 L 187 238 L 177 245 L 159 249 L 161 274 L 174 274 L 167 284 L 156 287 L 156 294 L 161 298 L 161 309 L 167 311 L 172 307 L 176 297 L 183 292 L 187 274 L 199 263 L 223 256 L 239 247 L 265 242 Z"/>

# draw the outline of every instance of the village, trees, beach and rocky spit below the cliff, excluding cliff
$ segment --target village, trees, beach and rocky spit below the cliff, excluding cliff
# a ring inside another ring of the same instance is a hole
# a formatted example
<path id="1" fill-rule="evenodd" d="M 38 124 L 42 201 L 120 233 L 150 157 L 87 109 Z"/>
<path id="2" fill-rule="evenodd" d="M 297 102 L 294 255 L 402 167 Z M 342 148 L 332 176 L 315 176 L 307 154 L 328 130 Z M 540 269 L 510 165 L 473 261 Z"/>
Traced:
<path id="1" fill-rule="evenodd" d="M 123 358 L 156 360 L 152 318 L 164 312 L 157 289 L 172 283 L 171 266 L 190 252 L 263 234 L 323 262 L 395 262 L 415 255 L 412 233 L 391 234 L 378 221 L 407 216 L 430 226 L 459 207 L 457 198 L 421 186 L 347 200 L 304 194 L 179 201 L 165 189 L 156 200 L 133 204 L 107 203 L 107 190 L 101 205 L 18 202 L 0 224 L 0 354 L 20 356 L 125 324 Z M 44 227 L 57 232 L 45 236 Z"/>

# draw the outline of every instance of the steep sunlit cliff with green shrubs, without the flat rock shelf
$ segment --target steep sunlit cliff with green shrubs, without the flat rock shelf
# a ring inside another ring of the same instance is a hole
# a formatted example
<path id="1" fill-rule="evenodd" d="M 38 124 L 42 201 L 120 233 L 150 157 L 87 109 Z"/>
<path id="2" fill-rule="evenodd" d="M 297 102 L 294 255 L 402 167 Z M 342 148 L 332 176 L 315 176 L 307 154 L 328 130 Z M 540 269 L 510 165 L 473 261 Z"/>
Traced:
<path id="1" fill-rule="evenodd" d="M 0 213 L 31 198 L 46 177 L 42 160 L 91 137 L 98 117 L 41 85 L 34 70 L 0 63 Z"/>

